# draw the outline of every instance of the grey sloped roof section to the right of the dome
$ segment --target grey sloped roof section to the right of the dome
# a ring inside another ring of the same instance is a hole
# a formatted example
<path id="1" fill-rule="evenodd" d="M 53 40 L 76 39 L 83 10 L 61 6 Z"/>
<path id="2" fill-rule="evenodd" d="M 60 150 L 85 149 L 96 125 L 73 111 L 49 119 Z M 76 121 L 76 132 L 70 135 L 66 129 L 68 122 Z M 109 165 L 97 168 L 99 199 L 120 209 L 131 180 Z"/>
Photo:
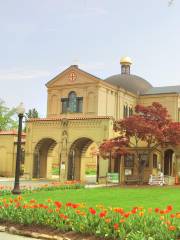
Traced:
<path id="1" fill-rule="evenodd" d="M 166 87 L 153 87 L 142 95 L 153 95 L 163 93 L 180 93 L 180 85 L 177 86 L 166 86 Z"/>

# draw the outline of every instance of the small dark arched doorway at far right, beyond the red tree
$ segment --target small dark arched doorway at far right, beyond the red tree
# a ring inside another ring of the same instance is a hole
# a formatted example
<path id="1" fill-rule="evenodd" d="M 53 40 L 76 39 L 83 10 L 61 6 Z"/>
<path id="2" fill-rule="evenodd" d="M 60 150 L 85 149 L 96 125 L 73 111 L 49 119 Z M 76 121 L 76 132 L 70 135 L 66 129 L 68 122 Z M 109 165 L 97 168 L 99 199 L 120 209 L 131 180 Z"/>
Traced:
<path id="1" fill-rule="evenodd" d="M 174 152 L 171 149 L 164 152 L 164 175 L 172 176 L 173 153 Z"/>

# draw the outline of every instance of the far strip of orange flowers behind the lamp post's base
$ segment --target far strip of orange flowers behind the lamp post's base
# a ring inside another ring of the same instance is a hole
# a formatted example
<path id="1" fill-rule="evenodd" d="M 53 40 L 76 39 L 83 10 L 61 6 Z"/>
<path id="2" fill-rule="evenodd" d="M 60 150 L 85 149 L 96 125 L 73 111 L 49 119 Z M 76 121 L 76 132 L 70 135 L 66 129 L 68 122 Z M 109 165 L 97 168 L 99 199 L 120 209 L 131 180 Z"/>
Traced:
<path id="1" fill-rule="evenodd" d="M 21 192 L 24 193 L 32 193 L 32 192 L 39 192 L 39 191 L 54 191 L 54 190 L 64 190 L 64 189 L 80 189 L 84 188 L 84 184 L 78 181 L 66 181 L 64 183 L 60 182 L 51 182 L 49 184 L 44 185 L 34 185 L 21 186 Z M 0 185 L 0 196 L 10 195 L 12 191 L 12 187 Z"/>

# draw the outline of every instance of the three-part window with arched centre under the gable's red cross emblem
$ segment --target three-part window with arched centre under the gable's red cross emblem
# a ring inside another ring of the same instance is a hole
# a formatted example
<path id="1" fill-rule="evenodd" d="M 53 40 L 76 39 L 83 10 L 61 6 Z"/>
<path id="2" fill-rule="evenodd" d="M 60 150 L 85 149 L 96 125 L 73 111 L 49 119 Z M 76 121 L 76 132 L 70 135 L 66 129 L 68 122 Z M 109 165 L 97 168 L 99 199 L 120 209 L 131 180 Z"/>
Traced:
<path id="1" fill-rule="evenodd" d="M 82 112 L 83 97 L 77 97 L 75 92 L 70 92 L 68 98 L 61 98 L 62 113 Z"/>

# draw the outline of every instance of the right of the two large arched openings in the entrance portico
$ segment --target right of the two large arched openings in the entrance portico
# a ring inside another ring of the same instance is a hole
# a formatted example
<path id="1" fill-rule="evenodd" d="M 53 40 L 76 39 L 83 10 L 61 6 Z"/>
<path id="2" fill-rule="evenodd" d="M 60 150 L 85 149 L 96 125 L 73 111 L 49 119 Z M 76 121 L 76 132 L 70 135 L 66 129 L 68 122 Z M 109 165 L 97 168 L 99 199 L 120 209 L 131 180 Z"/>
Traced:
<path id="1" fill-rule="evenodd" d="M 87 170 L 89 170 L 90 173 L 93 171 L 93 179 L 96 181 L 96 168 L 97 145 L 93 140 L 83 137 L 74 141 L 68 156 L 67 179 L 86 181 Z"/>

